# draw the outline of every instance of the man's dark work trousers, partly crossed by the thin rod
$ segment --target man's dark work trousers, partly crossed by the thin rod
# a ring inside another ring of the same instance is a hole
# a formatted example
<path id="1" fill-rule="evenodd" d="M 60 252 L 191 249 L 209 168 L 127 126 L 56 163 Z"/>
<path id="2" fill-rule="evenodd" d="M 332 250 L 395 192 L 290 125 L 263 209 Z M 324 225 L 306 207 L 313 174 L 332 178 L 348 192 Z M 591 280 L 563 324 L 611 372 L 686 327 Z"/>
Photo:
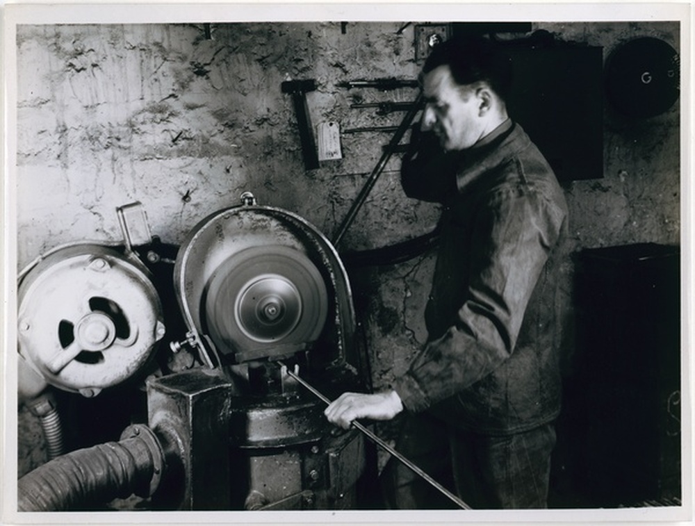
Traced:
<path id="1" fill-rule="evenodd" d="M 555 427 L 507 436 L 462 431 L 428 413 L 409 414 L 396 450 L 473 509 L 546 508 Z M 380 477 L 386 507 L 457 508 L 450 499 L 389 459 Z"/>

